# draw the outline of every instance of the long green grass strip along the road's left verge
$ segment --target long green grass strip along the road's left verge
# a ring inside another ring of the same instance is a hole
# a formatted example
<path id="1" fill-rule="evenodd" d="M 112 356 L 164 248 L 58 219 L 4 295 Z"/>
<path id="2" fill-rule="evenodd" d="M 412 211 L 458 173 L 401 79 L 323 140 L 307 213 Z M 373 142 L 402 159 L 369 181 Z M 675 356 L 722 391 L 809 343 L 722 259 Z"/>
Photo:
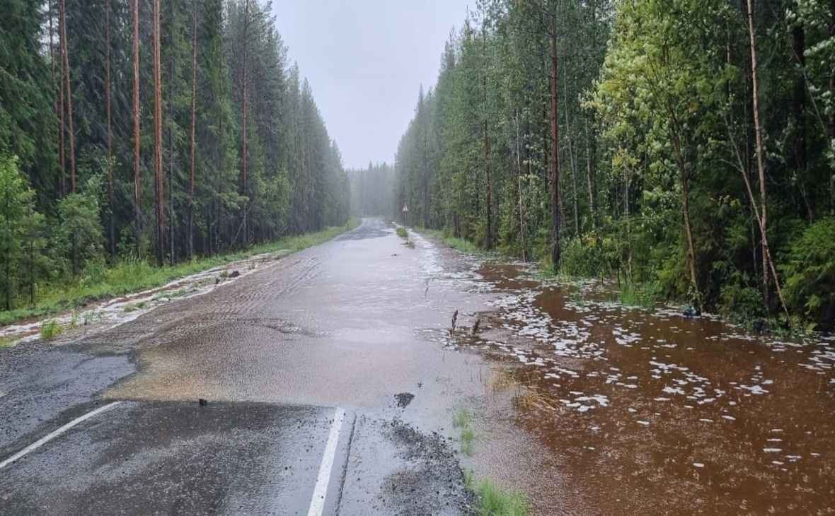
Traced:
<path id="1" fill-rule="evenodd" d="M 201 273 L 225 263 L 244 260 L 256 254 L 279 250 L 288 250 L 294 253 L 304 248 L 325 243 L 341 233 L 357 228 L 360 223 L 360 219 L 352 218 L 345 226 L 327 228 L 319 233 L 284 238 L 275 243 L 253 246 L 238 253 L 195 259 L 187 263 L 177 264 L 174 267 L 158 268 L 144 261 L 124 260 L 116 263 L 111 268 L 105 269 L 104 273 L 97 278 L 78 278 L 74 281 L 54 285 L 43 295 L 43 298 L 38 299 L 33 307 L 0 312 L 0 325 L 27 318 L 49 316 L 73 308 L 81 308 L 100 299 L 117 298 L 124 294 L 161 287 L 175 279 Z"/>

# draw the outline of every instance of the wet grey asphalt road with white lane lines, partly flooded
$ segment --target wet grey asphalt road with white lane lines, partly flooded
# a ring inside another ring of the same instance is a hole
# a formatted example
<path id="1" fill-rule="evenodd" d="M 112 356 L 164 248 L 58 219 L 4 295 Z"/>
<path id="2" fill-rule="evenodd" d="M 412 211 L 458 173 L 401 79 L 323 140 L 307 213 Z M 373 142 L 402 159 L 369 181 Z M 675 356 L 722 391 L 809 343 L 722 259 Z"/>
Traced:
<path id="1" fill-rule="evenodd" d="M 0 351 L 0 514 L 470 513 L 448 426 L 483 386 L 438 340 L 476 303 L 455 287 L 372 219 L 116 328 Z"/>

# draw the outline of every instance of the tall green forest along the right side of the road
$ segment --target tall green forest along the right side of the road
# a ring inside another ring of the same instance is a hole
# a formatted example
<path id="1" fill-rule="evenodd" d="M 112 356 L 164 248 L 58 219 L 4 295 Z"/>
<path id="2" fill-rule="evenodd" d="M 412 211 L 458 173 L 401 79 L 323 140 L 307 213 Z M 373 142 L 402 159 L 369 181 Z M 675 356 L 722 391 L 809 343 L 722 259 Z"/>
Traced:
<path id="1" fill-rule="evenodd" d="M 835 3 L 481 0 L 396 172 L 484 248 L 832 326 Z"/>

